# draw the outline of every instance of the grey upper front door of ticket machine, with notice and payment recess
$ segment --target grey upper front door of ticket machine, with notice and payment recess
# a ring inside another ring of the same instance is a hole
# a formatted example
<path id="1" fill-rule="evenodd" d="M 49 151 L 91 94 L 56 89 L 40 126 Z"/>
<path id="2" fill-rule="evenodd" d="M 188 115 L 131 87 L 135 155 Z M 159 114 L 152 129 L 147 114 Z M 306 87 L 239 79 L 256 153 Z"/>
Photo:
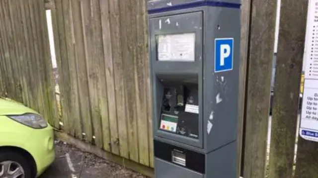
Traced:
<path id="1" fill-rule="evenodd" d="M 150 18 L 154 134 L 203 148 L 203 13 Z"/>

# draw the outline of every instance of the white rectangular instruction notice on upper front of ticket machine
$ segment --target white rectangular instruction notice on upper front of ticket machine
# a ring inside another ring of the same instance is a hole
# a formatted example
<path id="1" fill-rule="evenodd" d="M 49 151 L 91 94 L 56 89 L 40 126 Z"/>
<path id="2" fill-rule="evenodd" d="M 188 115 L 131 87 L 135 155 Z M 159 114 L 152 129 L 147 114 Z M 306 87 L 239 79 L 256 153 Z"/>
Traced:
<path id="1" fill-rule="evenodd" d="M 195 33 L 158 36 L 159 61 L 194 61 Z"/>

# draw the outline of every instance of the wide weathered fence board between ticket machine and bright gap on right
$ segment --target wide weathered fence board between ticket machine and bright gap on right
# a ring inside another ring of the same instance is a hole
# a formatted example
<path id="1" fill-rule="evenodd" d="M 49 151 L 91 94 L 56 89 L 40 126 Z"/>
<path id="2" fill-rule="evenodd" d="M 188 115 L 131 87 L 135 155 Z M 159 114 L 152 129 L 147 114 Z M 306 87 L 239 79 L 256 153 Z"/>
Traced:
<path id="1" fill-rule="evenodd" d="M 244 178 L 265 176 L 276 0 L 251 0 L 247 56 Z"/>

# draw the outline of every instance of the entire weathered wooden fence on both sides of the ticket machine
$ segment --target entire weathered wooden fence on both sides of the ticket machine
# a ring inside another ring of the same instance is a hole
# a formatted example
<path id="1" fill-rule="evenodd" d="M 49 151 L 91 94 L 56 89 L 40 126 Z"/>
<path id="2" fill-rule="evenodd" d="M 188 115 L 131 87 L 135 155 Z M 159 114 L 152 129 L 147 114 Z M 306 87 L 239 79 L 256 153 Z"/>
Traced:
<path id="1" fill-rule="evenodd" d="M 54 93 L 46 8 L 52 11 L 60 100 Z M 238 170 L 244 178 L 265 173 L 318 178 L 318 144 L 295 141 L 307 0 L 282 0 L 269 164 L 276 0 L 242 0 L 241 9 Z M 56 129 L 98 150 L 154 167 L 147 28 L 145 0 L 50 0 L 47 5 L 0 0 L 0 95 L 38 110 Z"/>

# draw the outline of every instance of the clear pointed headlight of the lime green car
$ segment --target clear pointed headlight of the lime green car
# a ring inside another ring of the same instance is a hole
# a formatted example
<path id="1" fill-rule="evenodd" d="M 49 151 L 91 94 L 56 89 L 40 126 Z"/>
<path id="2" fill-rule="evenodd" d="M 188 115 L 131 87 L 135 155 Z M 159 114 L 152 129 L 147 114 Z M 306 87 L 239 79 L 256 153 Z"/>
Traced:
<path id="1" fill-rule="evenodd" d="M 35 129 L 42 129 L 48 126 L 46 120 L 38 114 L 27 113 L 23 115 L 8 115 L 7 117 Z"/>

